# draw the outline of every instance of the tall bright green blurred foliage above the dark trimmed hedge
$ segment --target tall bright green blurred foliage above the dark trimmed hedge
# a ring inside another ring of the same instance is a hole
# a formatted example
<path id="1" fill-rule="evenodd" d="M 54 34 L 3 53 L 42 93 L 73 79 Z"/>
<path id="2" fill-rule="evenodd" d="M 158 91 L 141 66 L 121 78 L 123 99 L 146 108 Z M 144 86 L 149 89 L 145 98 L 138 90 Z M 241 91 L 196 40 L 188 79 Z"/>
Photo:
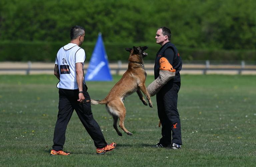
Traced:
<path id="1" fill-rule="evenodd" d="M 0 41 L 63 42 L 81 25 L 89 43 L 99 32 L 107 43 L 152 43 L 167 26 L 182 48 L 255 50 L 255 9 L 255 0 L 1 0 Z"/>

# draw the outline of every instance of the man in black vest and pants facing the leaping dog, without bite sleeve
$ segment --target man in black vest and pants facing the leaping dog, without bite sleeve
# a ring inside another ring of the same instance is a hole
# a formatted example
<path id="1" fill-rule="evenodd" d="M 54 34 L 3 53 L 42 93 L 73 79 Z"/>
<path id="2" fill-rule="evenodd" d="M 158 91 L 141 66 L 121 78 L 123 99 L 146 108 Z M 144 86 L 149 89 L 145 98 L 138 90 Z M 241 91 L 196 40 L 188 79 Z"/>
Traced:
<path id="1" fill-rule="evenodd" d="M 170 43 L 171 31 L 167 27 L 160 27 L 156 32 L 156 43 L 162 47 L 156 54 L 154 74 L 155 79 L 159 76 L 161 57 L 165 57 L 176 70 L 175 77 L 167 82 L 156 94 L 158 117 L 162 124 L 162 138 L 156 147 L 180 149 L 181 125 L 177 109 L 178 92 L 180 89 L 180 70 L 182 60 L 177 48 Z"/>

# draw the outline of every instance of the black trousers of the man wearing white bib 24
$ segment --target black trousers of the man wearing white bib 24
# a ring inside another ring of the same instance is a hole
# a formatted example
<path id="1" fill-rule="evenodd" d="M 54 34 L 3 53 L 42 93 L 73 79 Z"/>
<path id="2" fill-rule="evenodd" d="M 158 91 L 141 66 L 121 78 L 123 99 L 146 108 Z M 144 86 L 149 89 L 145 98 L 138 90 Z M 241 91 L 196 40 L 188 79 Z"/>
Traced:
<path id="1" fill-rule="evenodd" d="M 54 129 L 52 149 L 59 151 L 63 149 L 65 143 L 65 133 L 68 122 L 75 110 L 85 129 L 94 141 L 97 148 L 107 145 L 105 138 L 100 130 L 100 126 L 95 121 L 91 111 L 91 101 L 86 85 L 83 85 L 85 100 L 79 103 L 78 90 L 59 89 L 59 112 Z"/>

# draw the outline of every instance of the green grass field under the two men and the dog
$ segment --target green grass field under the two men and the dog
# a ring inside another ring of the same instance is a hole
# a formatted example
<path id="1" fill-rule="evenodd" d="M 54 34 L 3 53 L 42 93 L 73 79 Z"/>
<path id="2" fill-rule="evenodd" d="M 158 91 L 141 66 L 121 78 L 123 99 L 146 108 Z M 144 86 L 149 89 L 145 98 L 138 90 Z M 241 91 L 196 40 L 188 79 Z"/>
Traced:
<path id="1" fill-rule="evenodd" d="M 121 76 L 113 77 L 113 82 L 88 82 L 91 98 L 104 98 Z M 146 85 L 151 81 L 148 76 Z M 118 136 L 105 106 L 92 106 L 106 141 L 117 143 L 101 156 L 75 112 L 64 145 L 71 156 L 49 156 L 58 113 L 56 83 L 53 75 L 0 76 L 0 166 L 255 166 L 255 76 L 182 76 L 180 150 L 151 148 L 161 137 L 155 97 L 153 108 L 136 93 L 125 98 L 125 126 L 132 136 Z"/>

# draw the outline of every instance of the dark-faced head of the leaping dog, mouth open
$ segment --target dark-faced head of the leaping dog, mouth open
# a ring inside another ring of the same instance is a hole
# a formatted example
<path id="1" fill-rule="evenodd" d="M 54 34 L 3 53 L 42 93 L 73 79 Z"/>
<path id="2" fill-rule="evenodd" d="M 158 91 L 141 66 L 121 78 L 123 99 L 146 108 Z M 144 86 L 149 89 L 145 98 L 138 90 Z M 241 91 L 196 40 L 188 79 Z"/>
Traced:
<path id="1" fill-rule="evenodd" d="M 130 56 L 128 61 L 129 62 L 137 62 L 137 63 L 143 63 L 143 58 L 146 57 L 148 54 L 144 52 L 148 47 L 133 47 L 132 48 L 125 48 L 126 51 L 130 52 Z"/>

